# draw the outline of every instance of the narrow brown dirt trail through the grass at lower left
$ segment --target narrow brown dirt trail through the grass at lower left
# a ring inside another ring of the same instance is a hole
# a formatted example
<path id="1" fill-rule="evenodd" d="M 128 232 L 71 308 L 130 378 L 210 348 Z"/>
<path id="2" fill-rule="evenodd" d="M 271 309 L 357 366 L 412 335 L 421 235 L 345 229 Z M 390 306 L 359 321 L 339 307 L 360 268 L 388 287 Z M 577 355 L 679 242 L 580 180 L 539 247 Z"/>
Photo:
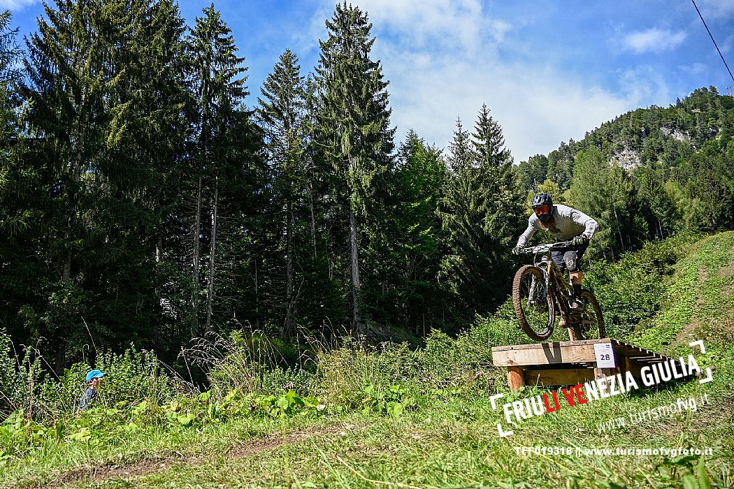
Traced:
<path id="1" fill-rule="evenodd" d="M 330 427 L 314 427 L 310 430 L 297 431 L 289 433 L 285 437 L 280 433 L 272 433 L 267 435 L 265 438 L 251 438 L 243 441 L 242 444 L 231 446 L 228 452 L 222 454 L 222 457 L 229 460 L 236 460 L 238 458 L 252 455 L 253 453 L 276 449 L 286 442 L 291 444 L 305 438 L 333 435 L 335 433 L 342 433 L 349 430 L 355 430 L 357 428 L 360 427 L 352 424 L 339 424 Z M 139 477 L 146 474 L 153 474 L 154 472 L 164 471 L 179 463 L 204 463 L 206 460 L 210 459 L 211 455 L 207 456 L 206 454 L 172 454 L 147 457 L 126 464 L 106 463 L 98 466 L 82 466 L 66 471 L 55 479 L 26 481 L 16 487 L 60 489 L 67 485 L 75 485 L 81 482 L 88 484 L 92 482 L 102 482 L 106 479 L 115 479 L 118 477 L 129 479 L 131 477 Z"/>

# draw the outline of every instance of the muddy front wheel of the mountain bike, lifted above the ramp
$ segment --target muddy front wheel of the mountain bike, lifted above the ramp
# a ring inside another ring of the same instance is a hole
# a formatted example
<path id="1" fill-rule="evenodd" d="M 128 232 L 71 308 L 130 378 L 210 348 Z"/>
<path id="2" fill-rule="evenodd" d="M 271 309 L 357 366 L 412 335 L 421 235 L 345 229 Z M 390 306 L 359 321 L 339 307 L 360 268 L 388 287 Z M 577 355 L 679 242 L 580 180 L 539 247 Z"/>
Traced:
<path id="1" fill-rule="evenodd" d="M 515 315 L 525 334 L 542 341 L 553 333 L 556 311 L 553 296 L 545 284 L 545 276 L 539 268 L 524 265 L 515 273 L 512 281 L 512 304 Z"/>

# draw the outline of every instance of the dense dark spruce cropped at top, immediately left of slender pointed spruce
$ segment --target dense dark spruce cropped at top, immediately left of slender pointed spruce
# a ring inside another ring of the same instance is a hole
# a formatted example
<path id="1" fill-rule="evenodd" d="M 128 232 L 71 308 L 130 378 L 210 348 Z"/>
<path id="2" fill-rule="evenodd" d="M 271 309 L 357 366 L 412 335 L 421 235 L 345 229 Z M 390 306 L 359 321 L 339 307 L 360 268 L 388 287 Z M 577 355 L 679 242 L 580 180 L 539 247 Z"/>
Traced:
<path id="1" fill-rule="evenodd" d="M 170 304 L 166 238 L 188 135 L 186 26 L 172 0 L 109 2 L 102 16 L 115 82 L 107 95 L 107 154 L 98 166 L 104 177 L 97 195 L 106 205 L 95 220 L 110 229 L 103 239 L 118 259 L 102 265 L 106 277 L 99 284 L 117 301 L 98 309 L 119 318 L 101 323 L 111 323 L 108 334 L 125 345 L 131 337 L 124 325 L 135 317 L 132 339 L 175 351 L 170 339 L 179 337 L 178 321 L 161 304 Z"/>

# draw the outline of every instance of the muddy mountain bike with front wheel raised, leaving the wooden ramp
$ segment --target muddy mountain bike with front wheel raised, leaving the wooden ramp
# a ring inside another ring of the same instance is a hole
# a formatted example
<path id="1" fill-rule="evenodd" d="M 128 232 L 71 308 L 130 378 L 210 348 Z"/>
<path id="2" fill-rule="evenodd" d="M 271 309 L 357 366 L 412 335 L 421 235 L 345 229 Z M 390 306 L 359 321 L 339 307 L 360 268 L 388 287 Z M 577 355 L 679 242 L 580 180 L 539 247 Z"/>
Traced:
<path id="1" fill-rule="evenodd" d="M 520 327 L 532 339 L 542 341 L 553 334 L 556 314 L 570 328 L 570 339 L 595 339 L 606 337 L 601 307 L 590 290 L 581 290 L 583 309 L 573 311 L 573 287 L 566 281 L 563 271 L 551 260 L 551 251 L 567 249 L 571 241 L 531 246 L 522 251 L 532 253 L 533 265 L 523 265 L 515 273 L 512 282 L 512 303 Z M 539 257 L 539 255 L 542 255 Z"/>

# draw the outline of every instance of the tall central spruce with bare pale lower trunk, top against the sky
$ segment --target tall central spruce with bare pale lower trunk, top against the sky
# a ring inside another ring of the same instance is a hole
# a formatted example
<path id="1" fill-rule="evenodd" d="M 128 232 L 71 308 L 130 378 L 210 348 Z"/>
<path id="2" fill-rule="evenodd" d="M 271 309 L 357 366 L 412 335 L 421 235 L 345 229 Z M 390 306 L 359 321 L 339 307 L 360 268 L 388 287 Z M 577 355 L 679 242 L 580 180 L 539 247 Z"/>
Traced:
<path id="1" fill-rule="evenodd" d="M 349 213 L 349 323 L 364 332 L 360 317 L 360 218 L 368 217 L 373 180 L 385 171 L 393 150 L 388 82 L 382 66 L 370 59 L 372 25 L 359 7 L 336 6 L 327 21 L 328 37 L 319 41 L 321 143 L 335 172 L 335 190 Z"/>

